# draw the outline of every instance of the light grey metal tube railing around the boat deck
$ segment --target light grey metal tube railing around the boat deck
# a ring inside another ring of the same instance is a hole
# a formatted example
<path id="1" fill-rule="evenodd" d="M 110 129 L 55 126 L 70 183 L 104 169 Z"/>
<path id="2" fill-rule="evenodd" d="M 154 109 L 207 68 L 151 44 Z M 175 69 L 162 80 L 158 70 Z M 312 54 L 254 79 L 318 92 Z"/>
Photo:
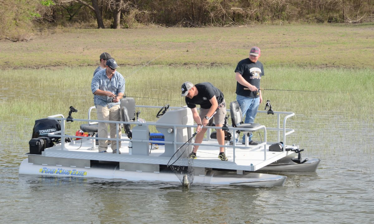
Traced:
<path id="1" fill-rule="evenodd" d="M 143 107 L 143 108 L 162 108 L 161 106 L 143 106 L 143 105 L 137 105 L 137 107 Z M 181 107 L 170 107 L 169 109 L 180 109 Z M 161 124 L 161 123 L 156 123 L 156 122 L 123 122 L 123 121 L 102 121 L 102 120 L 95 120 L 95 119 L 91 119 L 91 115 L 90 113 L 92 112 L 92 110 L 95 109 L 95 107 L 91 107 L 89 108 L 88 110 L 88 119 L 76 119 L 76 118 L 73 118 L 73 121 L 80 121 L 80 122 L 86 122 L 88 124 L 98 124 L 99 122 L 106 122 L 106 123 L 113 123 L 113 124 L 116 124 L 116 130 L 117 130 L 117 138 L 102 138 L 102 137 L 94 137 L 94 136 L 76 136 L 76 135 L 67 135 L 65 133 L 65 122 L 67 121 L 67 118 L 64 117 L 64 115 L 62 114 L 58 114 L 58 115 L 52 115 L 52 116 L 49 116 L 48 118 L 49 119 L 55 119 L 55 120 L 59 120 L 61 121 L 61 131 L 56 131 L 56 132 L 53 132 L 53 133 L 49 133 L 49 136 L 52 136 L 52 137 L 61 137 L 61 149 L 62 150 L 66 150 L 65 149 L 65 138 L 80 138 L 80 139 L 95 139 L 95 141 L 97 140 L 113 140 L 113 141 L 131 141 L 131 142 L 146 142 L 146 143 L 153 143 L 153 144 L 160 144 L 160 143 L 166 143 L 166 144 L 173 144 L 174 146 L 174 152 L 177 150 L 177 145 L 182 145 L 184 144 L 185 142 L 177 142 L 176 139 L 177 139 L 177 136 L 176 136 L 176 132 L 172 131 L 171 130 L 171 133 L 174 133 L 174 140 L 173 141 L 157 141 L 157 140 L 150 140 L 150 139 L 128 139 L 128 138 L 122 138 L 119 136 L 119 125 L 121 124 L 132 124 L 132 125 L 146 125 L 148 126 L 148 130 L 149 130 L 149 126 L 159 126 L 159 127 L 172 127 L 174 128 L 174 130 L 176 130 L 177 128 L 180 128 L 180 127 L 183 127 L 183 128 L 196 128 L 197 125 L 178 125 L 178 124 Z M 258 111 L 259 113 L 265 113 L 266 111 Z M 277 136 L 277 142 L 280 141 L 280 137 L 281 137 L 281 133 L 283 134 L 283 151 L 285 151 L 285 146 L 286 146 L 286 136 L 291 134 L 291 133 L 294 133 L 294 130 L 293 129 L 290 129 L 290 128 L 286 128 L 286 121 L 289 117 L 291 116 L 294 116 L 295 114 L 292 113 L 292 112 L 276 112 L 274 111 L 274 113 L 277 115 L 277 127 L 265 127 L 264 125 L 260 125 L 259 127 L 256 127 L 256 128 L 234 128 L 234 127 L 227 127 L 225 128 L 225 130 L 231 132 L 231 133 L 235 133 L 237 130 L 240 130 L 240 131 L 257 131 L 257 130 L 263 130 L 264 132 L 264 141 L 260 144 L 258 144 L 256 147 L 259 148 L 259 149 L 262 149 L 263 152 L 264 152 L 264 160 L 266 160 L 266 144 L 267 144 L 267 131 L 268 130 L 271 130 L 271 131 L 276 131 L 278 133 L 278 136 Z M 283 127 L 281 127 L 281 115 L 286 115 L 284 118 L 283 118 Z M 206 128 L 208 128 L 208 131 L 207 131 L 207 139 L 208 141 L 211 141 L 211 139 L 209 139 L 209 136 L 210 136 L 210 131 L 211 129 L 223 129 L 222 127 L 214 127 L 214 126 L 206 126 Z M 192 129 L 194 130 L 194 129 Z M 188 133 L 189 136 L 191 136 L 193 133 Z M 233 135 L 234 139 L 235 139 L 235 134 Z M 189 138 L 188 138 L 189 139 Z M 234 162 L 235 162 L 235 150 L 237 148 L 239 149 L 242 149 L 246 146 L 238 146 L 235 142 L 235 140 L 233 141 L 233 145 L 220 145 L 220 144 L 205 144 L 205 143 L 201 143 L 201 144 L 197 144 L 197 143 L 194 143 L 195 145 L 199 145 L 199 146 L 215 146 L 215 147 L 225 147 L 225 148 L 232 148 L 233 149 L 233 159 L 234 159 Z M 119 153 L 119 148 L 118 148 L 119 144 L 117 144 L 117 153 Z M 95 147 L 93 145 L 93 147 Z"/>

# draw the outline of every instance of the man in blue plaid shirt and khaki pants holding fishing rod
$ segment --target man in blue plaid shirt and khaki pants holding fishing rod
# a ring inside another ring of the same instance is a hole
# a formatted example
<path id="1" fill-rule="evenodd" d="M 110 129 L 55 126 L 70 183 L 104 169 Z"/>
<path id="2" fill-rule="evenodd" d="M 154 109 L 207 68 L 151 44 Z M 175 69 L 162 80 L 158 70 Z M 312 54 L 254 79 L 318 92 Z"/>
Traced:
<path id="1" fill-rule="evenodd" d="M 107 60 L 105 69 L 98 71 L 92 78 L 91 90 L 94 94 L 93 103 L 96 106 L 97 119 L 103 121 L 120 121 L 120 99 L 125 93 L 125 79 L 117 72 L 117 62 L 114 59 Z M 98 137 L 108 137 L 108 123 L 99 122 Z M 110 138 L 117 137 L 116 124 L 109 124 Z M 121 136 L 121 127 L 119 127 L 118 135 Z M 121 142 L 118 142 L 118 148 Z M 113 153 L 117 153 L 117 141 L 111 141 L 111 149 Z M 99 140 L 99 152 L 107 152 L 108 141 Z"/>

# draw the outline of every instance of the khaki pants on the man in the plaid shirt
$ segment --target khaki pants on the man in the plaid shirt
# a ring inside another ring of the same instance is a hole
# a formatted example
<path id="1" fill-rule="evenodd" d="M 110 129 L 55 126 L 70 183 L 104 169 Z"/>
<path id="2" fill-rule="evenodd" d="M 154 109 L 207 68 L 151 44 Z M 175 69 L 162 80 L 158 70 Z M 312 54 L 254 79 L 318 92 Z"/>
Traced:
<path id="1" fill-rule="evenodd" d="M 115 105 L 112 108 L 107 106 L 96 106 L 97 119 L 102 121 L 120 121 L 120 110 L 119 105 Z M 105 122 L 99 122 L 98 127 L 98 137 L 107 138 L 108 137 L 108 124 Z M 118 134 L 121 138 L 122 132 L 121 127 L 118 125 Z M 116 124 L 109 124 L 110 127 L 110 138 L 115 139 L 117 136 Z M 117 149 L 117 141 L 111 141 L 110 147 L 112 150 Z M 121 142 L 118 142 L 118 148 L 121 147 Z M 108 149 L 108 140 L 99 140 L 99 152 L 106 151 Z"/>

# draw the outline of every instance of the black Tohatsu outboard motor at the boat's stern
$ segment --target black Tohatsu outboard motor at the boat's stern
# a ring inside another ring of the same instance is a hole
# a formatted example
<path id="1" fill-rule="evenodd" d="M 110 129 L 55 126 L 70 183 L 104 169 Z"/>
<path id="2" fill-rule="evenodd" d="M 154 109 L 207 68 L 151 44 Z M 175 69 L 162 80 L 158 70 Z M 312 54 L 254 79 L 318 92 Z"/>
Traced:
<path id="1" fill-rule="evenodd" d="M 29 141 L 30 154 L 42 154 L 45 148 L 52 147 L 60 141 L 60 137 L 49 137 L 48 133 L 61 131 L 61 124 L 57 120 L 43 118 L 35 121 L 32 139 Z"/>

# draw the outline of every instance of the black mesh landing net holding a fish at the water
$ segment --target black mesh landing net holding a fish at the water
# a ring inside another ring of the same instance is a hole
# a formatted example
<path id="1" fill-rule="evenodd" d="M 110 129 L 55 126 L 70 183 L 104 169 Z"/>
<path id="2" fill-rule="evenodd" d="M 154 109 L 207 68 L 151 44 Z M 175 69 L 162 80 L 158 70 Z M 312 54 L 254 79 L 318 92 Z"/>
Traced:
<path id="1" fill-rule="evenodd" d="M 188 185 L 193 183 L 195 177 L 195 169 L 193 168 L 193 159 L 189 158 L 193 150 L 194 138 L 191 137 L 183 146 L 181 146 L 177 152 L 171 157 L 168 162 L 168 167 L 172 169 L 174 174 L 178 177 L 182 184 L 187 184 L 186 180 L 183 181 L 183 178 L 187 178 Z"/>

